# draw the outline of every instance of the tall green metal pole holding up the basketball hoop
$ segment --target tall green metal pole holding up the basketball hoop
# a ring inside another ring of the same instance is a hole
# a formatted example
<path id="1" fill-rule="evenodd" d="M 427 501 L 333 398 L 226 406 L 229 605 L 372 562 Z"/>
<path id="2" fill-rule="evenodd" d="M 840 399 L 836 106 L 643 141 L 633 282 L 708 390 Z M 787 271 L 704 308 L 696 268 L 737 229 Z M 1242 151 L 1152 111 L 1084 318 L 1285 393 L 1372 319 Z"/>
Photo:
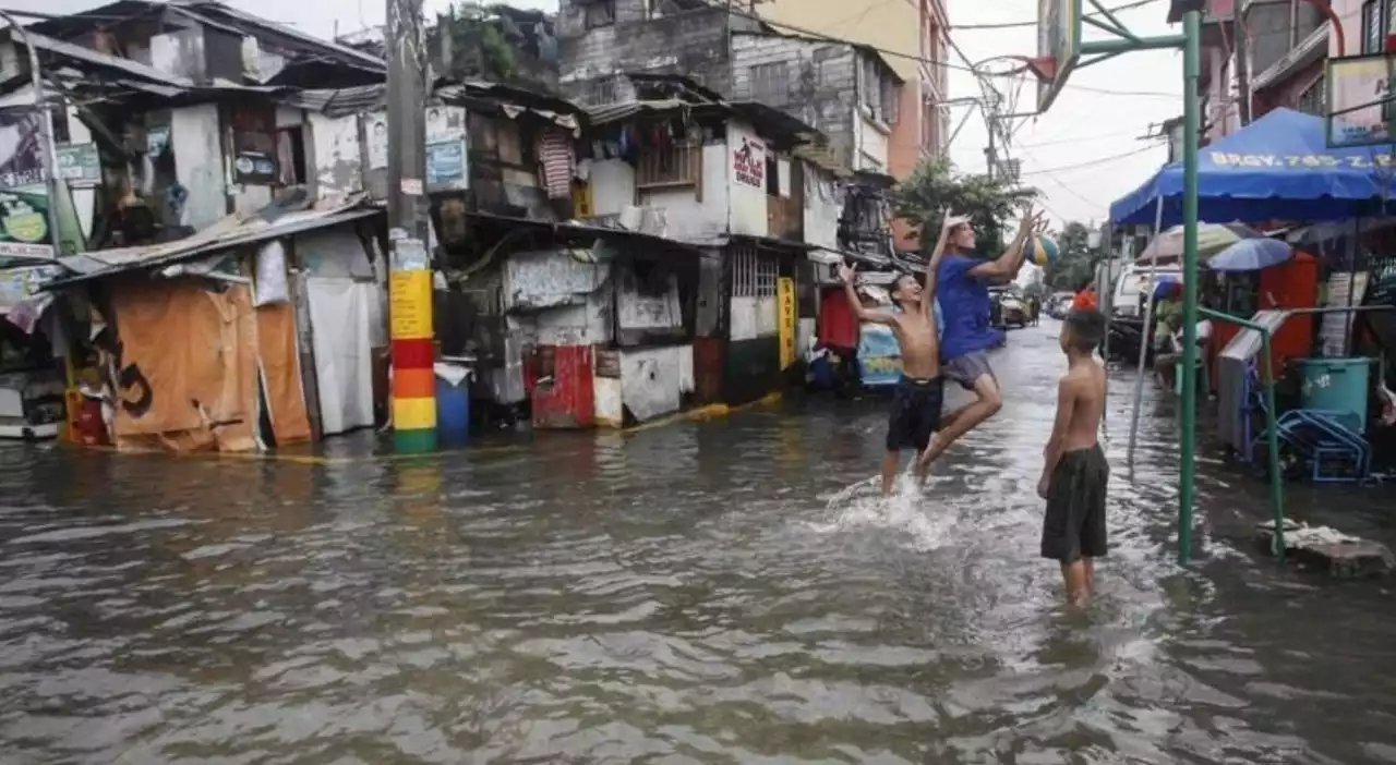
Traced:
<path id="1" fill-rule="evenodd" d="M 1198 422 L 1198 75 L 1202 14 L 1182 14 L 1182 423 L 1178 445 L 1178 563 L 1192 557 Z"/>

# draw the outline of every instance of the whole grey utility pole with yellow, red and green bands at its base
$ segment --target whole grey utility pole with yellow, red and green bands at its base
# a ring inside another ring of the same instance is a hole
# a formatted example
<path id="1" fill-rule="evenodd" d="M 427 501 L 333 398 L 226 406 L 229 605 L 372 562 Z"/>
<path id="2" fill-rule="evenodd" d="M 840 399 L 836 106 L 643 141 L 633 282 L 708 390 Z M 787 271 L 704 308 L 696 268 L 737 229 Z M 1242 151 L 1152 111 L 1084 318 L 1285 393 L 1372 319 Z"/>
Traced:
<path id="1" fill-rule="evenodd" d="M 422 0 L 387 0 L 388 292 L 392 440 L 398 451 L 437 448 L 436 334 L 426 197 L 426 39 Z"/>

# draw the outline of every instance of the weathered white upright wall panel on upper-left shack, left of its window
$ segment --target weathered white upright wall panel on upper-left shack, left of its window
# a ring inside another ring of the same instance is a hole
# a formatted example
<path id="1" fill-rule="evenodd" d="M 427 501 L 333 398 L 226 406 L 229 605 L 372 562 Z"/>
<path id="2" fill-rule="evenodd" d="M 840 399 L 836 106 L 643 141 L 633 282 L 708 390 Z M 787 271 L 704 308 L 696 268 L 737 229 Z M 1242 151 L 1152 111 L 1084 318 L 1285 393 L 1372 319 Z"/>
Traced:
<path id="1" fill-rule="evenodd" d="M 170 147 L 174 151 L 174 179 L 188 191 L 180 223 L 195 229 L 216 223 L 228 215 L 229 188 L 218 105 L 172 109 Z"/>

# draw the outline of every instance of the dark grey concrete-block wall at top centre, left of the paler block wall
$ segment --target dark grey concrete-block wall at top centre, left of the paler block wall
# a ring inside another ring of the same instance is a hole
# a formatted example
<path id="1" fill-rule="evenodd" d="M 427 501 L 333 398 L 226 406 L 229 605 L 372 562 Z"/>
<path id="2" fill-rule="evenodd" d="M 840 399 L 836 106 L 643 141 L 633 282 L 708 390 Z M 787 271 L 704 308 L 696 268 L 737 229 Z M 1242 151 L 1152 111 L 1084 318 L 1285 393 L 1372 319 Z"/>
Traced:
<path id="1" fill-rule="evenodd" d="M 561 0 L 557 13 L 558 89 L 584 98 L 589 81 L 625 71 L 674 73 L 732 92 L 727 14 L 702 8 L 648 18 L 646 0 L 614 0 L 616 22 L 588 29 L 586 3 Z"/>

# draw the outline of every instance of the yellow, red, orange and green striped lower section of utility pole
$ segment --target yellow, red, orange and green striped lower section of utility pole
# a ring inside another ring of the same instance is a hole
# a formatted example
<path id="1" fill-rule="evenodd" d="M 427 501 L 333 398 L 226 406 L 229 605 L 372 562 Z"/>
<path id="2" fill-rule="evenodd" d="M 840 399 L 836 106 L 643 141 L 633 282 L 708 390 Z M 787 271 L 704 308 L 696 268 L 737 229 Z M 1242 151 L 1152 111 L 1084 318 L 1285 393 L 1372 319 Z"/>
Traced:
<path id="1" fill-rule="evenodd" d="M 392 242 L 392 441 L 399 452 L 437 448 L 431 264 L 420 239 Z"/>

